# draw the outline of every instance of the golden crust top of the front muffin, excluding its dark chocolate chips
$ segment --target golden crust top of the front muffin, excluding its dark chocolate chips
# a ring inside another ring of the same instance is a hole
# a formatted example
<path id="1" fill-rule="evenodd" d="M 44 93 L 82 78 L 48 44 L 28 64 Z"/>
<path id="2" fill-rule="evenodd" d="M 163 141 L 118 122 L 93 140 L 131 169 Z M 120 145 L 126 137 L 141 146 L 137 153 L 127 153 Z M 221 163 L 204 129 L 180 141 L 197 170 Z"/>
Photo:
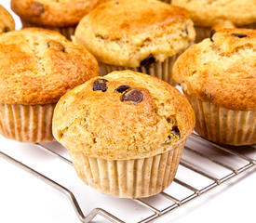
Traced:
<path id="1" fill-rule="evenodd" d="M 69 151 L 108 160 L 143 158 L 171 150 L 192 133 L 194 112 L 176 88 L 140 72 L 102 78 L 104 92 L 93 90 L 99 78 L 92 78 L 57 103 L 53 135 Z M 126 91 L 116 92 L 120 85 L 139 90 L 143 99 L 122 100 Z"/>

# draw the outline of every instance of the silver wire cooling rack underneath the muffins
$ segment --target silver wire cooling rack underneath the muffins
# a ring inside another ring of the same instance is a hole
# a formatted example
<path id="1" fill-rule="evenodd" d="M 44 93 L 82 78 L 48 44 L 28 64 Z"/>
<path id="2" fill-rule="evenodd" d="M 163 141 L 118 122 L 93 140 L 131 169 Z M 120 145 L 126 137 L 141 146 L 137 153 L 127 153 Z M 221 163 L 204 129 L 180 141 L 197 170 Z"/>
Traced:
<path id="1" fill-rule="evenodd" d="M 72 162 L 68 158 L 61 155 L 60 152 L 48 148 L 45 144 L 35 144 L 35 146 L 42 151 L 46 151 L 51 156 L 61 159 L 61 161 L 66 164 L 72 165 Z M 12 164 L 18 165 L 20 168 L 30 172 L 35 177 L 39 177 L 48 185 L 64 193 L 73 204 L 74 211 L 81 222 L 90 222 L 96 216 L 101 216 L 105 218 L 105 220 L 114 223 L 127 222 L 127 219 L 121 219 L 119 216 L 115 216 L 111 214 L 111 212 L 97 207 L 92 209 L 88 215 L 85 215 L 80 204 L 77 202 L 73 191 L 65 188 L 57 181 L 37 172 L 34 168 L 21 163 L 2 151 L 0 151 L 0 157 Z M 146 216 L 137 222 L 153 222 L 159 217 L 165 216 L 171 211 L 181 207 L 184 203 L 188 203 L 209 190 L 216 188 L 230 178 L 248 171 L 255 165 L 255 146 L 221 146 L 193 134 L 186 143 L 178 173 L 171 186 L 167 190 L 155 195 L 154 200 L 151 198 L 131 200 L 134 203 L 139 203 L 144 206 L 151 213 L 151 215 Z M 195 185 L 195 182 L 197 182 L 197 185 Z M 173 190 L 174 185 L 176 190 Z M 177 188 L 185 189 L 188 192 L 185 194 L 175 194 L 175 192 L 179 191 Z M 163 198 L 166 200 L 165 207 L 157 207 L 157 201 L 162 200 Z"/>

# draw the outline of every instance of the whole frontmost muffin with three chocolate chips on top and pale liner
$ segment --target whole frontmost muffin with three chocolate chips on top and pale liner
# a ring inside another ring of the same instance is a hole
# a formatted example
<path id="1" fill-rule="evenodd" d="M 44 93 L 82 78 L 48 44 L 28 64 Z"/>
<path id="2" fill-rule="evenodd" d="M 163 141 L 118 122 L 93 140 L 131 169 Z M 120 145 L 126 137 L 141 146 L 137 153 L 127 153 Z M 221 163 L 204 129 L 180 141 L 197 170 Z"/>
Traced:
<path id="1" fill-rule="evenodd" d="M 117 197 L 165 190 L 176 174 L 195 115 L 174 87 L 139 72 L 111 72 L 67 92 L 53 135 L 86 184 Z"/>

